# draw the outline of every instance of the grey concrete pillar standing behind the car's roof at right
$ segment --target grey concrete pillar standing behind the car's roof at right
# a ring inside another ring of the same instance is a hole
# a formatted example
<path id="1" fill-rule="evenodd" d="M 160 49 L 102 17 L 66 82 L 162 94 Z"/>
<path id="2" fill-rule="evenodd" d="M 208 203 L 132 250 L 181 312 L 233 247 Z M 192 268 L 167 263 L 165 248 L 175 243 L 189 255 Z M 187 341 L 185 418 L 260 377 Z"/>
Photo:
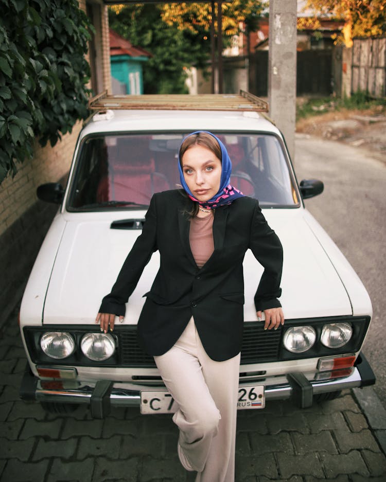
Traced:
<path id="1" fill-rule="evenodd" d="M 296 117 L 296 0 L 269 3 L 269 115 L 282 131 L 294 160 Z"/>

